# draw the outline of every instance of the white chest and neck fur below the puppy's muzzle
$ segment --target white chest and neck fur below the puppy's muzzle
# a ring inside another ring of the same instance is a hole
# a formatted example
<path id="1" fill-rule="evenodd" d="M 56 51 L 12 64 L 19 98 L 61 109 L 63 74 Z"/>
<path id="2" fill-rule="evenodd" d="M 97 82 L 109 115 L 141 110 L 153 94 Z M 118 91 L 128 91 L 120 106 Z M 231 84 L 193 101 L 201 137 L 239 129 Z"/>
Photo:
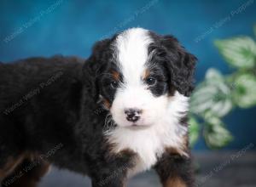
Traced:
<path id="1" fill-rule="evenodd" d="M 129 149 L 137 153 L 136 167 L 129 175 L 132 176 L 154 166 L 166 147 L 183 152 L 183 136 L 187 133 L 187 127 L 180 125 L 179 120 L 187 110 L 188 98 L 176 93 L 170 98 L 168 109 L 157 124 L 144 129 L 117 127 L 108 132 L 108 141 L 116 144 L 113 151 L 118 153 Z"/>

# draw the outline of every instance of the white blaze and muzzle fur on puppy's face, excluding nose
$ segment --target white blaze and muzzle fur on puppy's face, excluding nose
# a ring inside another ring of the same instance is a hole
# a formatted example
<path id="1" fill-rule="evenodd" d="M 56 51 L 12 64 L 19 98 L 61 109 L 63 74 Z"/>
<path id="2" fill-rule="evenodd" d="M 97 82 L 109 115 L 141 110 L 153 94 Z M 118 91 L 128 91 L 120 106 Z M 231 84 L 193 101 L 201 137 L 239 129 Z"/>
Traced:
<path id="1" fill-rule="evenodd" d="M 148 61 L 148 45 L 153 42 L 148 31 L 134 28 L 117 37 L 117 61 L 124 77 L 124 83 L 117 90 L 111 113 L 113 121 L 119 126 L 128 127 L 132 122 L 125 119 L 124 109 L 137 108 L 143 110 L 139 124 L 149 126 L 155 123 L 166 109 L 166 96 L 154 97 L 148 86 L 143 82 L 143 73 Z"/>

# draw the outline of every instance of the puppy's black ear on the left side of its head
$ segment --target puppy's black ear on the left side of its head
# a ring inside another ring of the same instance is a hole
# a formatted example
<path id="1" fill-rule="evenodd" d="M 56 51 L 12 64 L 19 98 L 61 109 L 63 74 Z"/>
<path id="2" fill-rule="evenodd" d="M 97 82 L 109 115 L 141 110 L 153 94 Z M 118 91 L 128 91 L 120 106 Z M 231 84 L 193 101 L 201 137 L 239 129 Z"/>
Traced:
<path id="1" fill-rule="evenodd" d="M 111 40 L 105 39 L 96 44 L 92 48 L 92 54 L 84 63 L 84 84 L 90 90 L 90 95 L 97 100 L 99 98 L 99 88 L 97 86 L 97 77 L 102 74 L 102 67 L 106 64 L 106 60 L 111 55 L 109 45 Z"/>

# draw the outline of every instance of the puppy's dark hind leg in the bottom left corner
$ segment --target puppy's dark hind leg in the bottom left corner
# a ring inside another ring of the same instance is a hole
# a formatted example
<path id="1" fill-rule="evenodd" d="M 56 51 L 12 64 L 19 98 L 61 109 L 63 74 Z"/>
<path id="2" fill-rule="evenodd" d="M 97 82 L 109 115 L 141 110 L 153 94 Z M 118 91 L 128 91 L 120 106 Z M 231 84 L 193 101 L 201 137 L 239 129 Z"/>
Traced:
<path id="1" fill-rule="evenodd" d="M 15 171 L 3 180 L 3 187 L 36 187 L 49 171 L 49 163 L 26 158 Z"/>

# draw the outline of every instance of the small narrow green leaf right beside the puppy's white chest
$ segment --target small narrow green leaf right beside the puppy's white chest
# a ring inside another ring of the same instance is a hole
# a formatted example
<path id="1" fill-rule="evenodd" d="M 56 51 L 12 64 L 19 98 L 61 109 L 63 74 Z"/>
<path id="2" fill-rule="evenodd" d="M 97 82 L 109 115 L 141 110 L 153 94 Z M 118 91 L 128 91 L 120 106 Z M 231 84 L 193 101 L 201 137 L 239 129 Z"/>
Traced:
<path id="1" fill-rule="evenodd" d="M 189 144 L 193 147 L 199 138 L 200 127 L 195 117 L 189 117 Z"/>

